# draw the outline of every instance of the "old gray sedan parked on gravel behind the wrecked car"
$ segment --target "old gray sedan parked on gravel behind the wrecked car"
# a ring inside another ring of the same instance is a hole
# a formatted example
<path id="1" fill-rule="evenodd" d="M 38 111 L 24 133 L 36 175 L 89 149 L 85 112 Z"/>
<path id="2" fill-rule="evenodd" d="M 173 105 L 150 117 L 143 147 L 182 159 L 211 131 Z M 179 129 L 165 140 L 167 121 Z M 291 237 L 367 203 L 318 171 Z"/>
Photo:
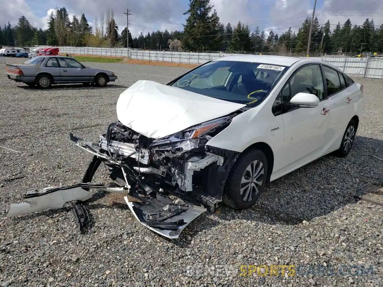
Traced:
<path id="1" fill-rule="evenodd" d="M 52 84 L 83 83 L 95 84 L 100 87 L 117 79 L 115 73 L 85 67 L 72 57 L 65 56 L 36 56 L 24 64 L 7 64 L 8 79 L 26 83 L 28 86 L 38 86 L 41 89 L 50 88 Z"/>

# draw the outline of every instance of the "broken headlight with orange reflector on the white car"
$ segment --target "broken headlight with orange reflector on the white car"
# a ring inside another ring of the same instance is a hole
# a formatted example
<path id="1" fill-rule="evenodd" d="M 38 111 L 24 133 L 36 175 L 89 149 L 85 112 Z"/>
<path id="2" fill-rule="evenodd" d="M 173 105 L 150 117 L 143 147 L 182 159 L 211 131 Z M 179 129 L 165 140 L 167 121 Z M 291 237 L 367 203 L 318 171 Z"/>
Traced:
<path id="1" fill-rule="evenodd" d="M 172 150 L 182 148 L 183 152 L 198 147 L 199 138 L 210 130 L 226 122 L 230 117 L 221 117 L 169 135 L 163 139 L 155 140 L 151 148 L 156 150 Z"/>

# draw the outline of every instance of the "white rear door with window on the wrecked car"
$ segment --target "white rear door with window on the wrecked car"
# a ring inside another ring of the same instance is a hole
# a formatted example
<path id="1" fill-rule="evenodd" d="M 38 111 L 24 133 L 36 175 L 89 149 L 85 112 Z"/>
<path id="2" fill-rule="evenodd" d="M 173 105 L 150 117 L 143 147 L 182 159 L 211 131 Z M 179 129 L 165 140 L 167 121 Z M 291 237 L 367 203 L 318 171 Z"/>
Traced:
<path id="1" fill-rule="evenodd" d="M 344 75 L 334 68 L 322 65 L 325 77 L 327 98 L 330 101 L 331 115 L 323 152 L 339 145 L 353 110 L 354 89 L 348 87 Z"/>

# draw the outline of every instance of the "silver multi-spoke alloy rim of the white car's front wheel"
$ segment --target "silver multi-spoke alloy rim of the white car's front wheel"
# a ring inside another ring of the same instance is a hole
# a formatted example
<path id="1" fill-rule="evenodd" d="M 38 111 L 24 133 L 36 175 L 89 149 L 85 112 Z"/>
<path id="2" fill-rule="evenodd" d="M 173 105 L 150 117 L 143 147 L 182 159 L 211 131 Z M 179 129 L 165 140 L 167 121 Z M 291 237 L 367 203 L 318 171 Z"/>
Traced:
<path id="1" fill-rule="evenodd" d="M 260 160 L 254 160 L 247 166 L 240 184 L 240 196 L 243 201 L 250 202 L 257 196 L 263 182 L 263 179 L 259 178 L 264 173 L 265 168 Z"/>

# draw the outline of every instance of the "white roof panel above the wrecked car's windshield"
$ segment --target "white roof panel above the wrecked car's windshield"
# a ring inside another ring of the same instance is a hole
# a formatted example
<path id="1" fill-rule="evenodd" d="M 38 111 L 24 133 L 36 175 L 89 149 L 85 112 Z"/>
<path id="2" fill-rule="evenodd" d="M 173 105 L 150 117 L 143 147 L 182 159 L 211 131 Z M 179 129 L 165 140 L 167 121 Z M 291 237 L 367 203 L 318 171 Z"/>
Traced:
<path id="1" fill-rule="evenodd" d="M 214 59 L 214 61 L 240 61 L 240 62 L 257 62 L 270 65 L 282 65 L 290 67 L 294 63 L 302 60 L 297 57 L 277 56 L 277 55 L 238 55 L 226 56 Z"/>

